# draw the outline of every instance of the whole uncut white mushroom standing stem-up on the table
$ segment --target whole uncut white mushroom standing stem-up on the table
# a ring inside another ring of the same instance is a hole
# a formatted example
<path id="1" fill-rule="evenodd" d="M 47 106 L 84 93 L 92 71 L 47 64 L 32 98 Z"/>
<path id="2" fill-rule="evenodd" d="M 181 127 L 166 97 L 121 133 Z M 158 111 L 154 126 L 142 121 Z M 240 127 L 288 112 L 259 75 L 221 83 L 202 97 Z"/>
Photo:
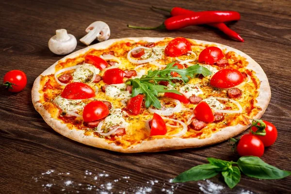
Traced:
<path id="1" fill-rule="evenodd" d="M 49 39 L 50 51 L 58 55 L 68 54 L 76 47 L 77 39 L 72 34 L 68 34 L 65 29 L 56 30 L 56 35 Z"/>

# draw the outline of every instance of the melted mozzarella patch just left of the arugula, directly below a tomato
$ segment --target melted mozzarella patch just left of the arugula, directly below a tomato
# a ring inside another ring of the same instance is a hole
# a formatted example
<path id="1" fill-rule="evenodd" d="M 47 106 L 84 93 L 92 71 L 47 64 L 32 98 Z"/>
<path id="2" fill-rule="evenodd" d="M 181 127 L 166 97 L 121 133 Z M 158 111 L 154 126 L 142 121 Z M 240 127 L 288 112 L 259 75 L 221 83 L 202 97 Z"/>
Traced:
<path id="1" fill-rule="evenodd" d="M 127 98 L 130 96 L 129 91 L 126 91 L 126 84 L 111 84 L 106 87 L 105 95 L 113 98 Z"/>

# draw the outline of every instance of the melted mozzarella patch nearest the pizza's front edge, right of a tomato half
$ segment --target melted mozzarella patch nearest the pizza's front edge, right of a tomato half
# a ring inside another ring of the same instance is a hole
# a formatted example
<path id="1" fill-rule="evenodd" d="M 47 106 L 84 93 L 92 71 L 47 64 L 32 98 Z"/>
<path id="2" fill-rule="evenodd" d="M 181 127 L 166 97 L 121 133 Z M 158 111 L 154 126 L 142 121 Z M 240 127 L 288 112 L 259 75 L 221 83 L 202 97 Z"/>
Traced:
<path id="1" fill-rule="evenodd" d="M 113 126 L 122 126 L 128 127 L 129 124 L 123 118 L 122 110 L 121 109 L 113 109 L 109 116 L 104 119 L 103 127 L 110 128 Z"/>

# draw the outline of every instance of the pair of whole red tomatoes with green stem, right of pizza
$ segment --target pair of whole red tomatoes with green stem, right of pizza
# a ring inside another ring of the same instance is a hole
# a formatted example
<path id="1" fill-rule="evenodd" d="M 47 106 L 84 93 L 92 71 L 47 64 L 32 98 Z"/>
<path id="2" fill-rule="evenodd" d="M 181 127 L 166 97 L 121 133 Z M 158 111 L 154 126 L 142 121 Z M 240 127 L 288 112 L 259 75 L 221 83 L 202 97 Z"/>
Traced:
<path id="1" fill-rule="evenodd" d="M 255 120 L 249 134 L 245 134 L 237 144 L 240 156 L 258 156 L 264 154 L 264 147 L 272 146 L 277 139 L 276 127 L 264 120 Z"/>

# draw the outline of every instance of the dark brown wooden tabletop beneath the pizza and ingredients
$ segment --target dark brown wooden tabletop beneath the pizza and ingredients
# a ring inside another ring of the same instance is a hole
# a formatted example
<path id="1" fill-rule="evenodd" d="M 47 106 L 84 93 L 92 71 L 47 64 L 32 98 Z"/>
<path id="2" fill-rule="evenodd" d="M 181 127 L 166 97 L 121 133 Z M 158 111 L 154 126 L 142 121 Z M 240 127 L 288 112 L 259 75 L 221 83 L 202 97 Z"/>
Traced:
<path id="1" fill-rule="evenodd" d="M 230 27 L 245 42 L 230 40 L 206 26 L 173 32 L 128 29 L 127 24 L 157 26 L 162 23 L 164 13 L 153 12 L 151 4 L 195 11 L 238 11 L 242 18 Z M 177 185 L 169 179 L 207 162 L 206 157 L 238 159 L 227 142 L 197 149 L 121 154 L 84 146 L 52 130 L 34 110 L 31 99 L 34 79 L 63 57 L 49 51 L 49 38 L 56 29 L 65 28 L 79 40 L 85 35 L 85 28 L 96 20 L 109 24 L 111 38 L 183 36 L 225 44 L 250 55 L 265 70 L 271 85 L 272 99 L 263 119 L 278 129 L 275 145 L 266 149 L 262 159 L 291 170 L 291 1 L 4 0 L 0 2 L 0 10 L 0 77 L 12 69 L 23 70 L 28 77 L 24 91 L 0 93 L 1 194 L 203 193 L 210 182 Z M 85 46 L 78 41 L 76 50 L 82 48 Z M 210 181 L 220 186 L 223 194 L 286 194 L 291 189 L 291 177 L 257 180 L 242 176 L 232 190 L 223 183 L 222 177 Z"/>

